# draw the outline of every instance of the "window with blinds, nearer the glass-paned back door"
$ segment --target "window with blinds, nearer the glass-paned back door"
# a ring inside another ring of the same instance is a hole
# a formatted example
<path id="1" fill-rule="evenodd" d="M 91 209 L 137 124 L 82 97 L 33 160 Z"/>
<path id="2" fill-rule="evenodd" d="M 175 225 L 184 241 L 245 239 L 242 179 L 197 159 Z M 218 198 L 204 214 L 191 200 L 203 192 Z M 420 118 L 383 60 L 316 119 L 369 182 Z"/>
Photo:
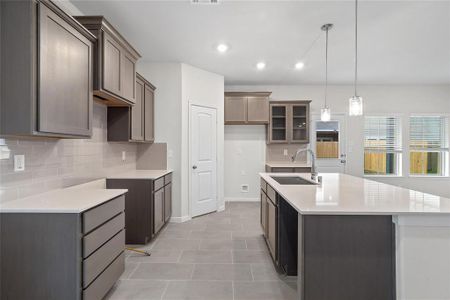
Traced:
<path id="1" fill-rule="evenodd" d="M 401 176 L 402 138 L 398 116 L 366 116 L 364 175 Z"/>

